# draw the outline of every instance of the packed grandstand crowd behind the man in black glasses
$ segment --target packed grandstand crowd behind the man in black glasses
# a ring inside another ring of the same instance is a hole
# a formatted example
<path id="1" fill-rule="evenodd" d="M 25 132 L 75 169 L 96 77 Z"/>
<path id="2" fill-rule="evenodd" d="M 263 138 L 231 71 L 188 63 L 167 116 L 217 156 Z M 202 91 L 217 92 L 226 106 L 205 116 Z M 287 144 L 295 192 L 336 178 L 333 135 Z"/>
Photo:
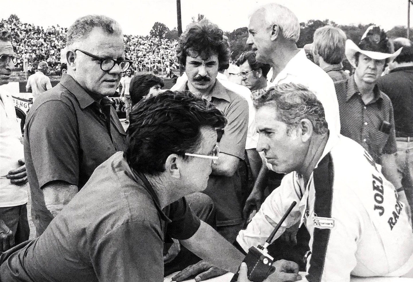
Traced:
<path id="1" fill-rule="evenodd" d="M 22 23 L 17 19 L 2 19 L 0 28 L 8 31 L 15 42 L 17 57 L 13 59 L 16 70 L 34 73 L 39 62 L 49 66 L 49 75 L 61 75 L 60 51 L 66 46 L 67 28 L 56 26 L 36 26 Z M 168 73 L 178 69 L 175 47 L 177 41 L 152 38 L 149 36 L 124 35 L 125 51 L 133 60 L 135 71 Z"/>

